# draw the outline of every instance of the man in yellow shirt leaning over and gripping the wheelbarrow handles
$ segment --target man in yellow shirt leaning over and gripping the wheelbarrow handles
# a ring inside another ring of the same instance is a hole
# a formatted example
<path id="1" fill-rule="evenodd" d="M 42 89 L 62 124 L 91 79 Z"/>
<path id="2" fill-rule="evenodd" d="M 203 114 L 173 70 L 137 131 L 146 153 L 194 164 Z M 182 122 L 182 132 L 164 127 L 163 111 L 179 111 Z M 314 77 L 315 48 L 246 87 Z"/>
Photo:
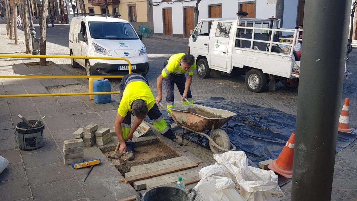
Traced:
<path id="1" fill-rule="evenodd" d="M 162 100 L 162 80 L 166 89 L 166 103 L 167 110 L 171 113 L 171 107 L 175 106 L 174 102 L 174 86 L 176 84 L 178 91 L 181 94 L 181 99 L 184 105 L 188 103 L 185 101 L 187 98 L 191 104 L 193 104 L 190 86 L 192 83 L 192 75 L 196 69 L 196 60 L 193 55 L 178 53 L 172 55 L 164 63 L 164 69 L 156 79 L 157 97 L 156 104 L 159 104 Z M 187 79 L 185 72 L 188 71 Z M 174 119 L 169 117 L 171 128 L 177 127 Z"/>

